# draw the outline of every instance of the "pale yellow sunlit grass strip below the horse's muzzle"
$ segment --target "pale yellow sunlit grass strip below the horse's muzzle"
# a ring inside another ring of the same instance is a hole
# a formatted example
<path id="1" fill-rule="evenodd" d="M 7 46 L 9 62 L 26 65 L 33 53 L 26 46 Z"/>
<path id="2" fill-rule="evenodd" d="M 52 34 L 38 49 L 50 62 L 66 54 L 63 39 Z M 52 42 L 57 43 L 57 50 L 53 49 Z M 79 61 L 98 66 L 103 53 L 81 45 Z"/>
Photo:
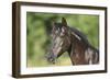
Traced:
<path id="1" fill-rule="evenodd" d="M 65 54 L 61 56 L 55 64 L 48 62 L 44 57 L 28 59 L 28 67 L 51 67 L 51 66 L 70 66 L 70 65 L 72 65 L 70 58 L 65 57 Z"/>

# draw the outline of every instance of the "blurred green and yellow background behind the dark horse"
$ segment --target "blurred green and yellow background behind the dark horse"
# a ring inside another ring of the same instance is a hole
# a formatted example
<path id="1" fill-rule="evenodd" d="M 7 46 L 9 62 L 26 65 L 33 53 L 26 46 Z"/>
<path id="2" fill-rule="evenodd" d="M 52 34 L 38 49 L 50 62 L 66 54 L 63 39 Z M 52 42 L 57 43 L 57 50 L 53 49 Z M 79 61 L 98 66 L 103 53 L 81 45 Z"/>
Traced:
<path id="1" fill-rule="evenodd" d="M 47 62 L 45 55 L 51 45 L 52 22 L 65 18 L 69 26 L 81 31 L 89 43 L 99 47 L 99 16 L 87 14 L 57 14 L 26 12 L 26 57 L 28 67 L 69 66 L 67 53 L 64 53 L 55 65 Z"/>

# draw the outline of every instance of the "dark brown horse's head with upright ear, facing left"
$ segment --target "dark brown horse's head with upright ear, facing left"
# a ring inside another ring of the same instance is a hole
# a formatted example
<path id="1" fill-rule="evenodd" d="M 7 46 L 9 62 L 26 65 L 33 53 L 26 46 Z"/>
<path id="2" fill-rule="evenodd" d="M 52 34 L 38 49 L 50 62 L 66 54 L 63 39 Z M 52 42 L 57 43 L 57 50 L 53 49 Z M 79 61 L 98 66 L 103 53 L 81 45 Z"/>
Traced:
<path id="1" fill-rule="evenodd" d="M 53 22 L 52 46 L 47 54 L 48 61 L 55 64 L 56 58 L 68 49 L 70 46 L 69 38 L 70 34 L 66 20 L 63 18 L 62 23 Z"/>

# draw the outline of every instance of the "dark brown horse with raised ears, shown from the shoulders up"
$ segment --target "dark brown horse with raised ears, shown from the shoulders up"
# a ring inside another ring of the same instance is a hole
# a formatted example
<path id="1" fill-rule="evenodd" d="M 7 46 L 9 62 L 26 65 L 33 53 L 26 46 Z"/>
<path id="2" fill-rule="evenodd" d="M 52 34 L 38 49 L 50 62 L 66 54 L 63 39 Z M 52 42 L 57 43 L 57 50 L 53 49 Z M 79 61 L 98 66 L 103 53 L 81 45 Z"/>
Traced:
<path id="1" fill-rule="evenodd" d="M 99 50 L 90 45 L 86 35 L 67 25 L 65 18 L 61 23 L 53 22 L 52 46 L 47 61 L 55 64 L 56 59 L 67 52 L 74 65 L 95 65 L 99 62 Z"/>

